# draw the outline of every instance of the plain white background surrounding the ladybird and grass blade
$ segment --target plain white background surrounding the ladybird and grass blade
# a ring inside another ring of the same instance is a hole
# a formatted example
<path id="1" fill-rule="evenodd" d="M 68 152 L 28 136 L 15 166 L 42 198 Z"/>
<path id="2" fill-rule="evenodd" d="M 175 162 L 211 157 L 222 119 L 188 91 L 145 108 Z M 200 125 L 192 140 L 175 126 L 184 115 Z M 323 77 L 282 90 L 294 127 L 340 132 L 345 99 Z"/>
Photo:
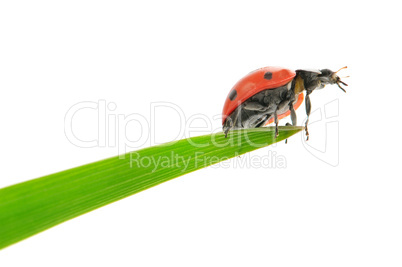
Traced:
<path id="1" fill-rule="evenodd" d="M 346 94 L 331 86 L 311 97 L 315 112 L 338 103 L 336 127 L 318 121 L 307 144 L 298 134 L 250 154 L 271 149 L 286 168 L 182 176 L 12 245 L 0 265 L 401 266 L 399 10 L 397 1 L 3 1 L 0 187 L 121 153 L 69 142 L 64 117 L 82 101 L 146 118 L 166 101 L 187 118 L 212 117 L 259 67 L 347 65 L 340 76 L 351 77 Z M 297 114 L 301 124 L 303 106 Z M 155 120 L 158 140 L 175 138 L 174 112 Z M 74 127 L 96 138 L 96 114 Z M 127 129 L 139 136 L 135 123 Z M 311 149 L 325 141 L 326 151 Z"/>

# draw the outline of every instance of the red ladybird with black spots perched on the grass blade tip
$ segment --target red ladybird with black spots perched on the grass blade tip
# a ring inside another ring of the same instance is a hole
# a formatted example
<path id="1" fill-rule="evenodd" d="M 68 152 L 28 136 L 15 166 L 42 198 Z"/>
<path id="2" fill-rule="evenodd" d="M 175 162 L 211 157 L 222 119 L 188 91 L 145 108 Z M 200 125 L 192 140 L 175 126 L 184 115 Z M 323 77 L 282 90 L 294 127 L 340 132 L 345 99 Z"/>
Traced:
<path id="1" fill-rule="evenodd" d="M 275 136 L 279 135 L 278 120 L 289 116 L 292 125 L 297 124 L 295 110 L 301 105 L 305 96 L 307 120 L 305 124 L 307 140 L 309 138 L 308 120 L 311 112 L 310 94 L 322 89 L 327 84 L 337 84 L 344 92 L 337 73 L 329 69 L 296 71 L 281 67 L 264 67 L 257 69 L 230 90 L 222 111 L 222 128 L 227 137 L 229 130 L 257 128 L 275 122 Z"/>

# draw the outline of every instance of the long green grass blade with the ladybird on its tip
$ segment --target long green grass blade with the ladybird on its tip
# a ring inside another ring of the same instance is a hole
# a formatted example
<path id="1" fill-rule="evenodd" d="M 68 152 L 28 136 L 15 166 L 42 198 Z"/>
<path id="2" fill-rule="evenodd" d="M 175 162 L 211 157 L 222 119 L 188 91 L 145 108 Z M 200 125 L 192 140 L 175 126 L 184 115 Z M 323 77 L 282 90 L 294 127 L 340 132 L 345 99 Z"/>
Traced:
<path id="1" fill-rule="evenodd" d="M 268 146 L 302 127 L 231 131 L 141 149 L 0 189 L 0 249 L 175 177 Z"/>

